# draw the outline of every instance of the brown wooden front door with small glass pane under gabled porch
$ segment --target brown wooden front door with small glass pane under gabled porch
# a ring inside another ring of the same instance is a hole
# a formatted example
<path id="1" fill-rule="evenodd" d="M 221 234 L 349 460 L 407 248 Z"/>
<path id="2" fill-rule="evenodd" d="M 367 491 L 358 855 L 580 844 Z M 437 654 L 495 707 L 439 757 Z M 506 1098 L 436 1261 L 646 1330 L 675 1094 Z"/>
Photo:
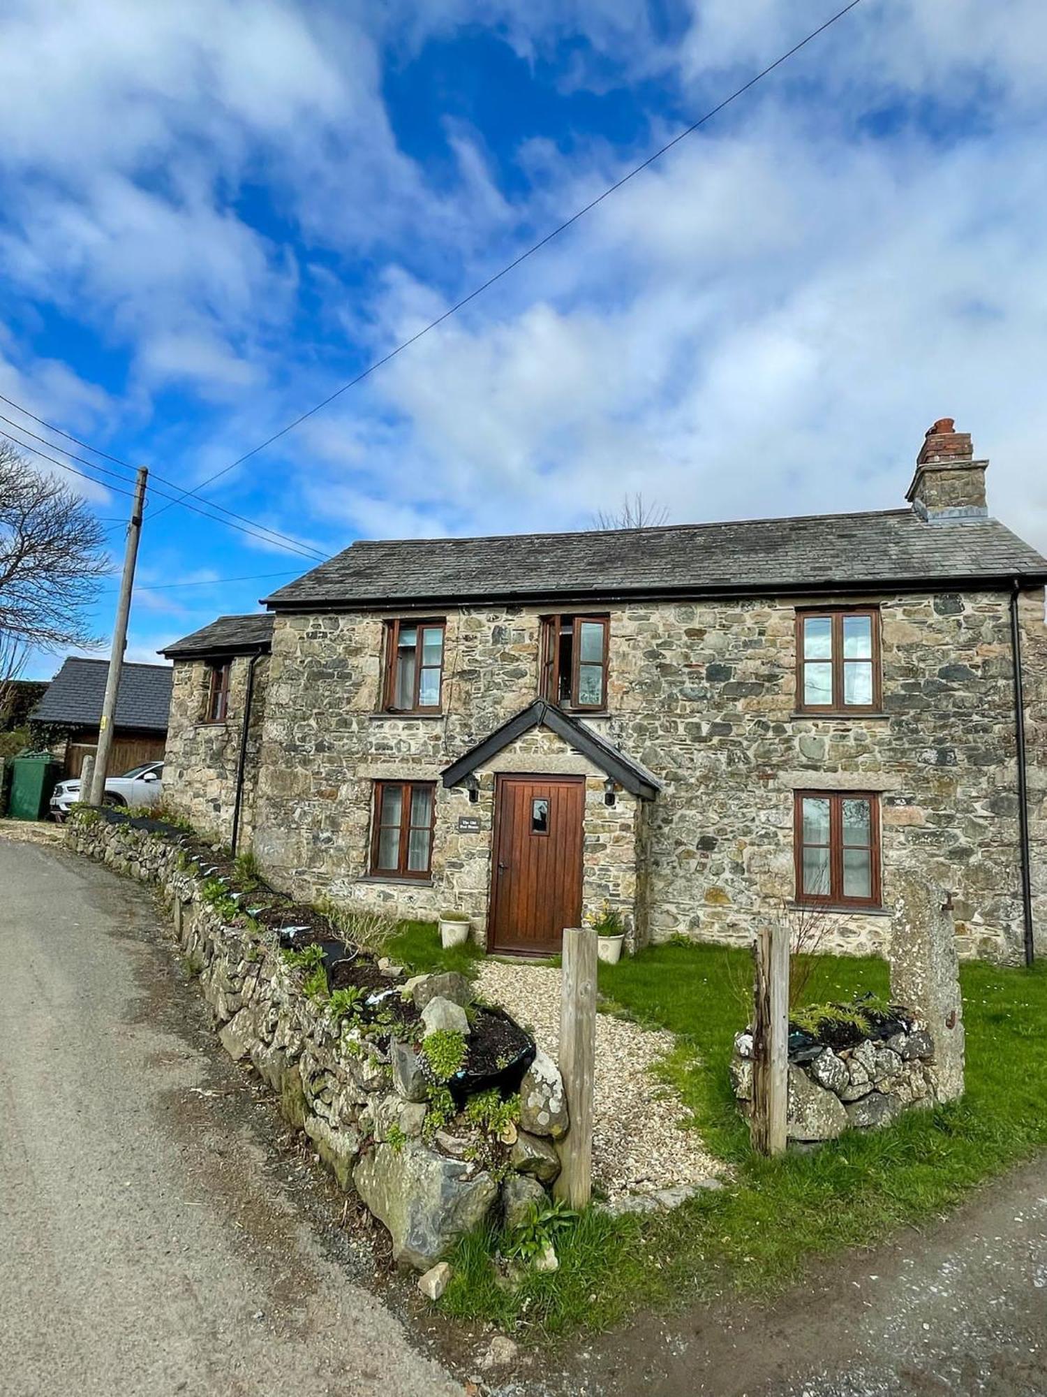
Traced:
<path id="1" fill-rule="evenodd" d="M 578 926 L 584 809 L 584 777 L 498 777 L 489 950 L 557 956 Z"/>

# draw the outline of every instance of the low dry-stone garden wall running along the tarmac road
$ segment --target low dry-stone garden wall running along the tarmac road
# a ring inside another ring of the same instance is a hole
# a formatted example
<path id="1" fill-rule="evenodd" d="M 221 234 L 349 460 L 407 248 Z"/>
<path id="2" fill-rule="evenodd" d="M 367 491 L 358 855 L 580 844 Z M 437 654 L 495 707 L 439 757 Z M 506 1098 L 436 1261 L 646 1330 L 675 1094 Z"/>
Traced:
<path id="1" fill-rule="evenodd" d="M 521 1083 L 511 1139 L 486 1137 L 484 1146 L 482 1132 L 461 1115 L 430 1130 L 436 1108 L 410 1042 L 383 1046 L 334 1021 L 303 993 L 302 972 L 288 965 L 271 932 L 247 918 L 222 921 L 202 897 L 202 873 L 177 842 L 98 813 L 74 816 L 67 838 L 78 854 L 159 887 L 222 1046 L 258 1073 L 338 1185 L 359 1194 L 388 1228 L 396 1261 L 426 1270 L 491 1214 L 515 1227 L 532 1206 L 547 1201 L 570 1118 L 560 1073 L 546 1053 L 539 1049 Z M 451 982 L 465 986 L 455 975 L 405 983 L 402 971 L 387 970 L 389 986 L 410 990 L 416 1003 L 424 989 L 431 1003 L 455 992 Z"/>

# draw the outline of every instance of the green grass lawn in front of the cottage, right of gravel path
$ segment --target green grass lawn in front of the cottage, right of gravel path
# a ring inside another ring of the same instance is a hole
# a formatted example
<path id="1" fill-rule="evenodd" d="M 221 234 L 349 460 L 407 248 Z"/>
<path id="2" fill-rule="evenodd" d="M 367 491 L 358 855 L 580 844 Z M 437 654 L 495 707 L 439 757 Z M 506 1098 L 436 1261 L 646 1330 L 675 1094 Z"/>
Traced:
<path id="1" fill-rule="evenodd" d="M 468 1238 L 444 1296 L 455 1315 L 522 1333 L 600 1329 L 639 1305 L 671 1306 L 725 1291 L 766 1295 L 843 1248 L 871 1246 L 931 1221 L 974 1185 L 1047 1146 L 1047 968 L 966 965 L 967 1094 L 906 1113 L 815 1154 L 764 1160 L 748 1147 L 727 1081 L 732 1038 L 745 1021 L 748 953 L 669 944 L 617 967 L 600 990 L 621 1011 L 677 1035 L 664 1074 L 733 1179 L 671 1214 L 611 1221 L 589 1210 L 558 1242 L 560 1270 L 515 1294 L 493 1284 L 497 1236 Z M 804 997 L 886 993 L 878 960 L 819 957 Z"/>

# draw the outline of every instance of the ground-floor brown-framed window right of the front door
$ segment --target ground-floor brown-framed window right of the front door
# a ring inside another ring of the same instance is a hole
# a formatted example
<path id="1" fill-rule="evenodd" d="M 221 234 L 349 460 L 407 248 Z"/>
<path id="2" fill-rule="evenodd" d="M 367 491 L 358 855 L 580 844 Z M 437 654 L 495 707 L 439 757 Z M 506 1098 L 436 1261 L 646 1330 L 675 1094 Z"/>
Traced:
<path id="1" fill-rule="evenodd" d="M 796 795 L 796 901 L 879 907 L 879 798 Z"/>

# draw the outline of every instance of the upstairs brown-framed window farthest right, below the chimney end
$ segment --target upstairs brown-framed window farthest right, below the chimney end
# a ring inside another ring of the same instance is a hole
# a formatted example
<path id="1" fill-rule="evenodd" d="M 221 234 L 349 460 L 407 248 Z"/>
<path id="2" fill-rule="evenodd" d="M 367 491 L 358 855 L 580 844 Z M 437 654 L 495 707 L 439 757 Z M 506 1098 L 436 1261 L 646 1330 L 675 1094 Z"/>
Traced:
<path id="1" fill-rule="evenodd" d="M 856 712 L 879 708 L 879 612 L 799 612 L 797 708 Z"/>

